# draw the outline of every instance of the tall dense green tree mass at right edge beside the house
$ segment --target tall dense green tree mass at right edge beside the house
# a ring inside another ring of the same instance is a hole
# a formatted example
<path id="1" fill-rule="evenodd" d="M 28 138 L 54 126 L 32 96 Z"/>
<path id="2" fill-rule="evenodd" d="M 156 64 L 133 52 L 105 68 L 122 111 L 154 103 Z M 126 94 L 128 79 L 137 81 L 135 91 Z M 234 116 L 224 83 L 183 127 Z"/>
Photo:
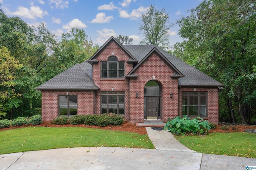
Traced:
<path id="1" fill-rule="evenodd" d="M 226 108 L 220 111 L 228 110 L 233 123 L 236 112 L 248 124 L 250 113 L 256 111 L 255 11 L 256 2 L 251 0 L 204 0 L 177 21 L 178 34 L 186 41 L 176 51 L 186 50 L 186 59 L 226 85 L 221 92 L 225 99 L 220 100 Z"/>

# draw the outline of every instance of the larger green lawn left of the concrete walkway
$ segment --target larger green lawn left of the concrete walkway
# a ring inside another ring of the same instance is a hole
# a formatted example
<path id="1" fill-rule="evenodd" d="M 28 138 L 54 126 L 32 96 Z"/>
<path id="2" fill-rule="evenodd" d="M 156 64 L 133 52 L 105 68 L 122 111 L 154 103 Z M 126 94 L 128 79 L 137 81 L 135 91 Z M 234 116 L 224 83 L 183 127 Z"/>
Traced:
<path id="1" fill-rule="evenodd" d="M 26 127 L 0 131 L 0 154 L 73 147 L 154 149 L 148 135 L 82 127 Z"/>

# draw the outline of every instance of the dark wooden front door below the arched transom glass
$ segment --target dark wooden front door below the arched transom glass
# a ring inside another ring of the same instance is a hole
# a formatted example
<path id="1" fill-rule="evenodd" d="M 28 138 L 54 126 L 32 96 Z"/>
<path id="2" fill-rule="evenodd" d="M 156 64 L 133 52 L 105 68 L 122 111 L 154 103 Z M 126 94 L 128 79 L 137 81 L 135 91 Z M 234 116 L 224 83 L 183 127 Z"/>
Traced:
<path id="1" fill-rule="evenodd" d="M 146 97 L 146 119 L 160 119 L 160 97 Z"/>

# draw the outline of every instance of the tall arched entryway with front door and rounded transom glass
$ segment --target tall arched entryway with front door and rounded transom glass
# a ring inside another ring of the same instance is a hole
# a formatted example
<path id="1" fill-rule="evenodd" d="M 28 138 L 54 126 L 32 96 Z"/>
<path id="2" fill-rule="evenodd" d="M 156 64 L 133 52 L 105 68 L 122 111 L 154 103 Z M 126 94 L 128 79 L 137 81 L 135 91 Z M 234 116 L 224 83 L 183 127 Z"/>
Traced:
<path id="1" fill-rule="evenodd" d="M 144 87 L 144 119 L 161 119 L 161 88 L 154 80 Z"/>

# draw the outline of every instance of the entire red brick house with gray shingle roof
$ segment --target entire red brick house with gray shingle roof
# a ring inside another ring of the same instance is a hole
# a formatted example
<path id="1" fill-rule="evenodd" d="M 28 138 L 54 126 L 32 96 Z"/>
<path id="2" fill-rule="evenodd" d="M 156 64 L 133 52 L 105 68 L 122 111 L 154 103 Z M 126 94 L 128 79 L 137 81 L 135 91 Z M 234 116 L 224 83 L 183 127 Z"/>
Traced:
<path id="1" fill-rule="evenodd" d="M 116 113 L 131 123 L 188 115 L 217 124 L 222 86 L 156 45 L 121 45 L 111 37 L 90 59 L 36 89 L 42 121 Z"/>

